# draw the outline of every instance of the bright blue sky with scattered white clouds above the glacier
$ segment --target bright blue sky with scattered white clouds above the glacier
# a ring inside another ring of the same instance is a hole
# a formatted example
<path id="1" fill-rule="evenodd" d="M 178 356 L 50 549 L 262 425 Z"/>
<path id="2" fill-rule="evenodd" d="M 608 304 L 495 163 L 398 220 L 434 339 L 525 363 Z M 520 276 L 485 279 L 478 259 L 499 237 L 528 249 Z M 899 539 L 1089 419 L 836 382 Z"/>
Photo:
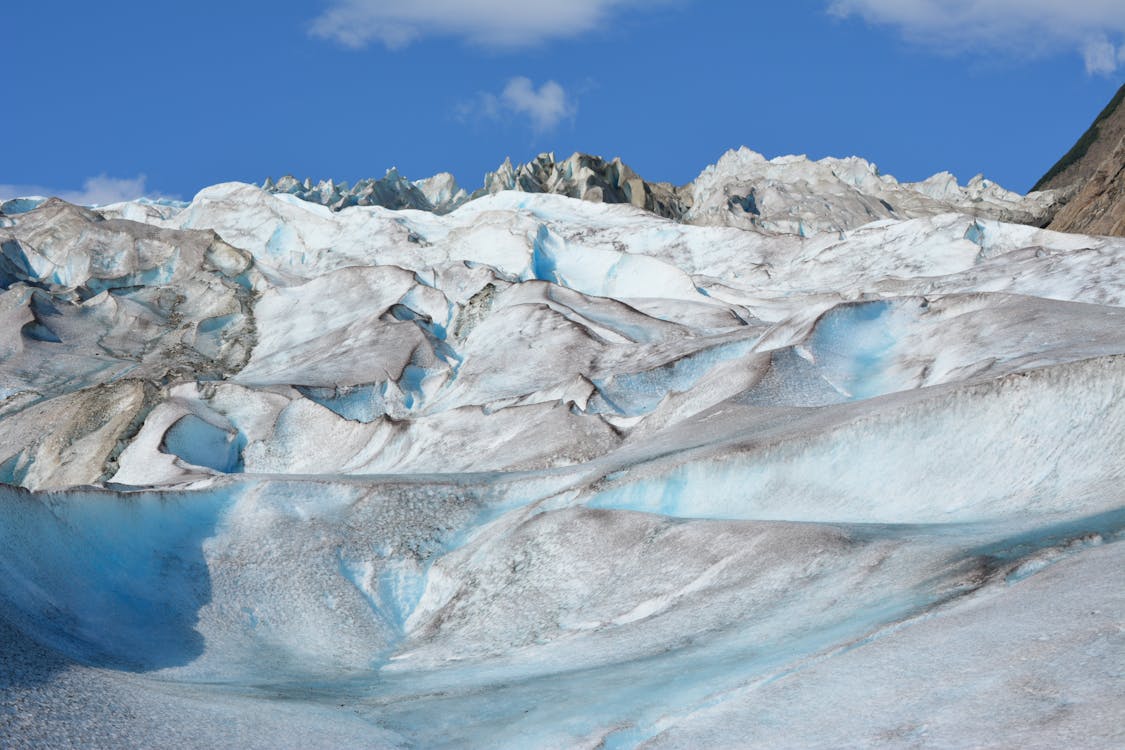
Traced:
<path id="1" fill-rule="evenodd" d="M 0 198 L 190 198 L 739 145 L 1026 190 L 1125 78 L 1120 0 L 39 0 L 0 10 Z"/>

